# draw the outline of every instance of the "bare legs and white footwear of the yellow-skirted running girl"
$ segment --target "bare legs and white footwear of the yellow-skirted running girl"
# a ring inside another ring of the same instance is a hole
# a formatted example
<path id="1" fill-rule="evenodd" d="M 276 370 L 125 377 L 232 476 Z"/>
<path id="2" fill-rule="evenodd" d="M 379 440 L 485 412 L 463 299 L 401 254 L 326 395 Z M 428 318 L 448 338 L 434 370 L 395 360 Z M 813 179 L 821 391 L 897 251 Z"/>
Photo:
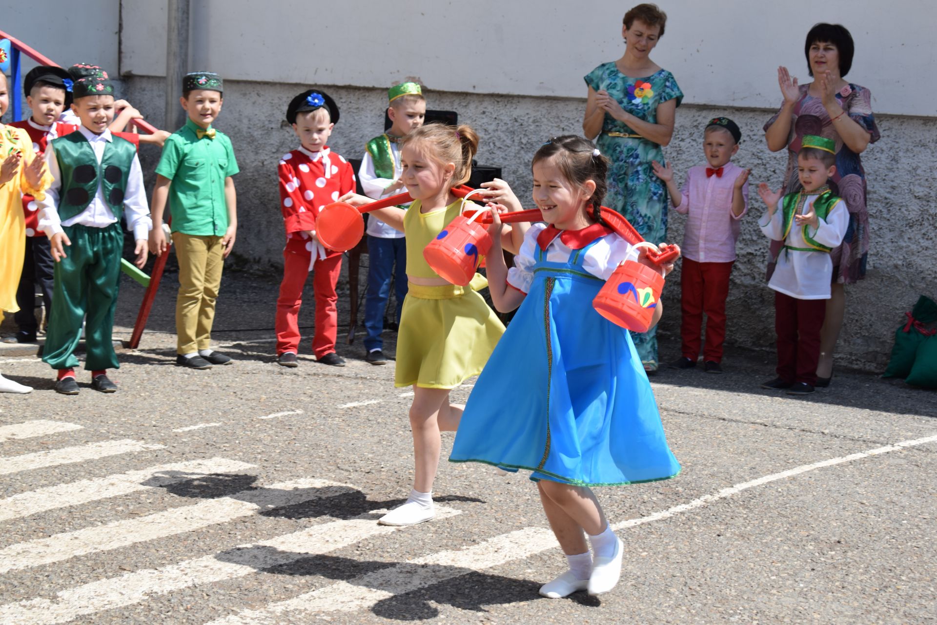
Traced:
<path id="1" fill-rule="evenodd" d="M 433 518 L 433 480 L 439 469 L 440 431 L 455 431 L 462 406 L 449 403 L 448 389 L 413 387 L 409 409 L 413 435 L 413 489 L 407 501 L 379 520 L 384 525 L 414 525 Z"/>

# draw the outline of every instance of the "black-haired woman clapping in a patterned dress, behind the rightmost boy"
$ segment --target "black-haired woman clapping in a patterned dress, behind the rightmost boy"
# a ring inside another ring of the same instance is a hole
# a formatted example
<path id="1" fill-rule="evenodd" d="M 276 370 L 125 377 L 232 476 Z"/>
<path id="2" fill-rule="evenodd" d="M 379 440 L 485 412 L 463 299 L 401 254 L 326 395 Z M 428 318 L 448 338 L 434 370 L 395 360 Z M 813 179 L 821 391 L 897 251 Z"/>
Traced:
<path id="1" fill-rule="evenodd" d="M 849 227 L 842 245 L 835 248 L 831 298 L 820 336 L 817 386 L 828 386 L 833 376 L 833 350 L 840 336 L 845 308 L 844 285 L 866 274 L 869 254 L 869 214 L 866 211 L 866 173 L 859 155 L 879 140 L 872 116 L 871 94 L 865 87 L 843 79 L 853 65 L 853 37 L 840 24 L 818 23 L 807 34 L 804 55 L 813 82 L 797 84 L 787 67 L 778 68 L 784 101 L 781 110 L 765 125 L 767 147 L 772 152 L 787 148 L 784 193 L 800 188 L 797 180 L 797 151 L 804 135 L 836 141 L 836 173 L 829 180 L 833 193 L 846 201 Z M 771 246 L 768 274 L 781 248 Z"/>

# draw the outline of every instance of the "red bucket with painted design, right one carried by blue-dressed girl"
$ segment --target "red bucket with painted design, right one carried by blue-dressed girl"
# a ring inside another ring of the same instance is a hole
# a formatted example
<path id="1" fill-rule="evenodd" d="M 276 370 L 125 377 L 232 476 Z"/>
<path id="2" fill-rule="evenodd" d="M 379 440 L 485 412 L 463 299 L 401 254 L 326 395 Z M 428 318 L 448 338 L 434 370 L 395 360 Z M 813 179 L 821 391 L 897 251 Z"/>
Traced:
<path id="1" fill-rule="evenodd" d="M 661 300 L 663 276 L 636 260 L 618 265 L 592 300 L 602 317 L 634 332 L 647 332 Z"/>

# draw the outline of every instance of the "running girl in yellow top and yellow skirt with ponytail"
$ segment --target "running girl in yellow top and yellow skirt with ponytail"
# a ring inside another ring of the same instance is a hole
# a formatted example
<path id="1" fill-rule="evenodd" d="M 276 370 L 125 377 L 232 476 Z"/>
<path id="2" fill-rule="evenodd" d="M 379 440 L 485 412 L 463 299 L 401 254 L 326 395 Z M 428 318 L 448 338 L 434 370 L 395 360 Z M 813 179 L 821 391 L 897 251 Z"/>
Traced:
<path id="1" fill-rule="evenodd" d="M 383 208 L 370 213 L 407 234 L 407 280 L 397 335 L 396 386 L 413 386 L 409 409 L 416 475 L 407 501 L 379 519 L 382 525 L 414 525 L 434 516 L 432 488 L 439 466 L 440 431 L 455 431 L 463 407 L 449 402 L 449 392 L 474 376 L 495 349 L 504 326 L 476 290 L 487 284 L 476 275 L 472 284 L 459 287 L 434 272 L 423 257 L 424 247 L 455 216 L 462 201 L 452 189 L 468 180 L 471 159 L 478 150 L 478 135 L 469 126 L 429 124 L 403 140 L 401 180 L 414 199 L 408 210 Z M 486 184 L 486 197 L 509 210 L 520 202 L 502 181 Z M 371 200 L 347 194 L 343 201 L 362 205 Z M 494 228 L 494 226 L 493 226 Z M 509 250 L 524 241 L 526 226 L 504 227 Z"/>

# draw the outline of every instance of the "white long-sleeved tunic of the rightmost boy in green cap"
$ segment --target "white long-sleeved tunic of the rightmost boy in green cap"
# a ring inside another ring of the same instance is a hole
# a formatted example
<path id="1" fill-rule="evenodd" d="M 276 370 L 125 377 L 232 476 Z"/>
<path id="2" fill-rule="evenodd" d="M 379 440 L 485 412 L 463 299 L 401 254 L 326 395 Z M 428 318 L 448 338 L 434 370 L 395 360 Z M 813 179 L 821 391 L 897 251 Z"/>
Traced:
<path id="1" fill-rule="evenodd" d="M 813 201 L 818 197 L 819 195 L 808 196 L 807 201 L 804 202 L 802 215 L 810 212 Z M 846 227 L 849 225 L 846 202 L 840 200 L 833 204 L 829 215 L 825 219 L 818 218 L 817 222 L 815 231 L 808 226 L 807 232 L 811 238 L 823 246 L 839 246 L 842 243 L 842 237 L 846 235 Z M 804 241 L 803 227 L 798 227 L 796 222 L 791 225 L 787 239 L 784 239 L 784 211 L 780 201 L 774 215 L 770 216 L 766 212 L 758 222 L 758 226 L 769 239 L 784 241 L 787 246 L 809 247 Z M 832 275 L 833 261 L 830 260 L 827 252 L 781 249 L 778 264 L 767 286 L 798 300 L 828 300 Z"/>

